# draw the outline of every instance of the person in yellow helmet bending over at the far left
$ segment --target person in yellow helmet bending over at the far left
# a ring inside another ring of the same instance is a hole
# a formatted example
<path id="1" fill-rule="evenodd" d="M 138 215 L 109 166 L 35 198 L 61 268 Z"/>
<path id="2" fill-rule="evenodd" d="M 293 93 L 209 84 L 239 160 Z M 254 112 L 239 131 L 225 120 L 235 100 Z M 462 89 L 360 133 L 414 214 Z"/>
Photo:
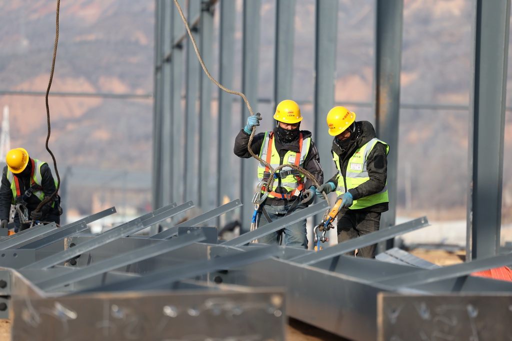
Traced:
<path id="1" fill-rule="evenodd" d="M 29 228 L 32 222 L 59 224 L 62 209 L 57 194 L 37 210 L 41 201 L 57 188 L 48 164 L 30 158 L 24 148 L 10 150 L 6 162 L 0 186 L 0 227 L 7 228 L 11 204 L 16 205 L 15 231 Z"/>

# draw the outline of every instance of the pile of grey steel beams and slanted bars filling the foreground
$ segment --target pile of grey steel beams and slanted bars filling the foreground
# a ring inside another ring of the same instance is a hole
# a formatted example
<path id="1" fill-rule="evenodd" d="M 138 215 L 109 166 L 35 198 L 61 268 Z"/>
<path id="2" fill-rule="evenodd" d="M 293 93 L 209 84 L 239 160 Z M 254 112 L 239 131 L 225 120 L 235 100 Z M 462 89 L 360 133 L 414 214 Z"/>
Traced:
<path id="1" fill-rule="evenodd" d="M 396 249 L 375 260 L 343 255 L 428 226 L 425 217 L 320 251 L 250 243 L 325 211 L 325 201 L 228 241 L 197 226 L 239 202 L 167 229 L 177 227 L 177 235 L 135 233 L 168 222 L 192 202 L 95 236 L 87 224 L 115 209 L 3 238 L 0 317 L 12 319 L 13 339 L 34 340 L 285 340 L 286 316 L 365 341 L 442 333 L 504 339 L 512 332 L 510 324 L 484 324 L 495 318 L 489 302 L 509 318 L 512 283 L 471 276 L 511 264 L 512 253 L 445 267 Z"/>

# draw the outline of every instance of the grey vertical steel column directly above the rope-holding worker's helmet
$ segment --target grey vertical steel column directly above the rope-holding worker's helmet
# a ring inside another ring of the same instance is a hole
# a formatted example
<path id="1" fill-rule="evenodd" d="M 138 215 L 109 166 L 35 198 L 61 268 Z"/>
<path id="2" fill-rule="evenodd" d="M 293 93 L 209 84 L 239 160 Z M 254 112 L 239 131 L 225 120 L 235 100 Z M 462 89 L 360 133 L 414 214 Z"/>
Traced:
<path id="1" fill-rule="evenodd" d="M 292 99 L 295 0 L 275 2 L 274 104 Z"/>

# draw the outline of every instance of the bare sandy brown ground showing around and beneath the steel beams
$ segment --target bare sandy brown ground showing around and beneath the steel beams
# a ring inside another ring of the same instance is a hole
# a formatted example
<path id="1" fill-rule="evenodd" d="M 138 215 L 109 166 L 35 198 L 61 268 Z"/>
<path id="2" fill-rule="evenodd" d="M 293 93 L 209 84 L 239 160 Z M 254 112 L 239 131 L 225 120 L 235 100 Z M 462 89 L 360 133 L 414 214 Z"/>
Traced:
<path id="1" fill-rule="evenodd" d="M 445 266 L 461 263 L 464 260 L 464 251 L 448 252 L 440 249 L 422 249 L 410 250 L 412 254 L 426 261 L 437 265 Z M 0 319 L 0 341 L 11 339 L 11 323 L 8 319 Z M 290 318 L 286 329 L 287 341 L 350 341 L 337 335 L 329 333 L 323 329 L 316 328 L 307 323 Z M 12 340 L 21 341 L 21 340 Z"/>

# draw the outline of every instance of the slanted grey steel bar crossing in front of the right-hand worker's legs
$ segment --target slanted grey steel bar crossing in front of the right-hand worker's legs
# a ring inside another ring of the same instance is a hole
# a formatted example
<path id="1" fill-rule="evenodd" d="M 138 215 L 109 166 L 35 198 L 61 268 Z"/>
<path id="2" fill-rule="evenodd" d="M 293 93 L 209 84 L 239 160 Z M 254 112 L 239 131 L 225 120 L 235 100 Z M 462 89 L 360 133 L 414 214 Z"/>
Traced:
<path id="1" fill-rule="evenodd" d="M 369 233 L 368 235 L 365 236 L 350 239 L 348 241 L 330 246 L 323 250 L 302 255 L 300 257 L 292 259 L 292 261 L 303 265 L 310 265 L 329 258 L 333 258 L 337 255 L 342 255 L 346 252 L 353 251 L 357 248 L 376 244 L 388 238 L 393 238 L 402 235 L 403 233 L 414 231 L 417 230 L 418 228 L 422 228 L 429 225 L 430 224 L 428 220 L 426 220 L 426 217 L 418 218 L 400 225 L 393 226 L 391 228 L 385 228 L 382 230 Z"/>

